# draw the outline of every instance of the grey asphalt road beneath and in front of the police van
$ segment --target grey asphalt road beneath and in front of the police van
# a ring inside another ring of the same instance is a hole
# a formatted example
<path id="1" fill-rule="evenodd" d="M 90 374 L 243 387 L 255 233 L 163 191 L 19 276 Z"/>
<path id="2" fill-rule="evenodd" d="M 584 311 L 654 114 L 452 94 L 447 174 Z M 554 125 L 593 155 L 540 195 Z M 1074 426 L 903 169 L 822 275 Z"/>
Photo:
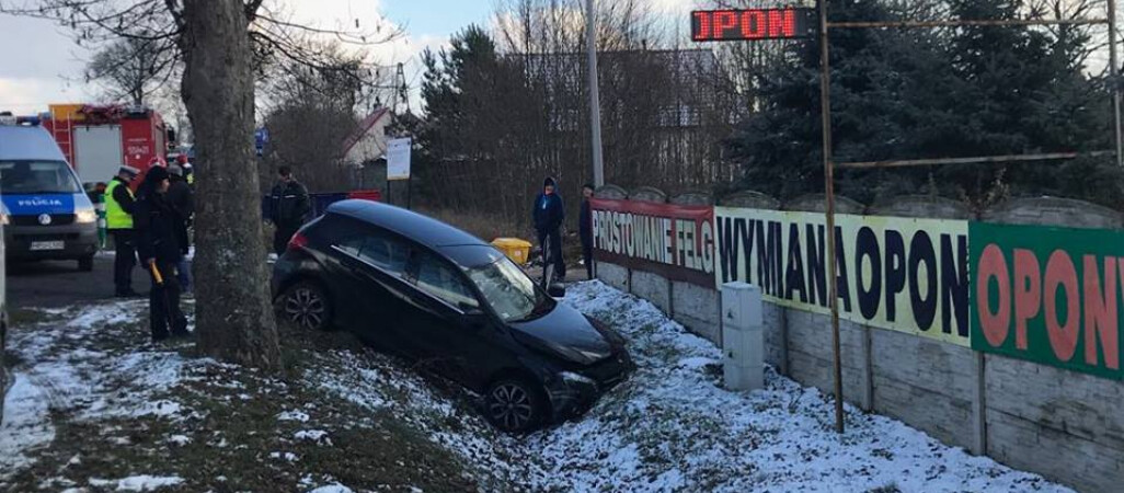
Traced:
<path id="1" fill-rule="evenodd" d="M 114 298 L 114 257 L 98 255 L 92 272 L 80 272 L 78 262 L 9 264 L 8 305 L 57 308 Z M 148 292 L 147 273 L 133 271 L 133 289 Z"/>

